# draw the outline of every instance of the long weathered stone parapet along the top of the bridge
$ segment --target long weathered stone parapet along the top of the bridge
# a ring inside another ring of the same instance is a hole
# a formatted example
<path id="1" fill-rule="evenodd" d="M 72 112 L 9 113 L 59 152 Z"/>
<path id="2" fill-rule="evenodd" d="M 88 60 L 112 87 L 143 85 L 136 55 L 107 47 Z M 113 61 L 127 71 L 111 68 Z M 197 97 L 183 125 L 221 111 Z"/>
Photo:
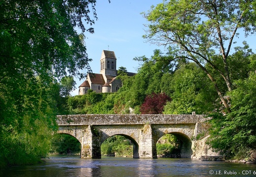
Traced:
<path id="1" fill-rule="evenodd" d="M 205 115 L 58 115 L 58 125 L 179 124 L 204 122 Z"/>

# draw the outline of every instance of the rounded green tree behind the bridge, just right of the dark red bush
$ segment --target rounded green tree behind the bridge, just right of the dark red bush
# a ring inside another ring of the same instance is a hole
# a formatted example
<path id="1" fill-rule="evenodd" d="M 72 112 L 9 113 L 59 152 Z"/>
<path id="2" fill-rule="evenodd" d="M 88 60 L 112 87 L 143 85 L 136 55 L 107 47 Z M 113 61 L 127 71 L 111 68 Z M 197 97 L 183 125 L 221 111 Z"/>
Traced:
<path id="1" fill-rule="evenodd" d="M 218 108 L 212 83 L 195 63 L 180 65 L 172 76 L 165 76 L 170 77 L 164 77 L 163 83 L 173 100 L 167 102 L 164 114 L 206 114 Z"/>

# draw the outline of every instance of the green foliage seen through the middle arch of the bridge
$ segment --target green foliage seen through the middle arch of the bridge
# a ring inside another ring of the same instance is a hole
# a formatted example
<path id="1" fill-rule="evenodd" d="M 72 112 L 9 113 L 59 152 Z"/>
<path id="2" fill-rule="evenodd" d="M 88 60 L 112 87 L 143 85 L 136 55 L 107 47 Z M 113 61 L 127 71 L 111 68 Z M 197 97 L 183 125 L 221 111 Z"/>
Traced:
<path id="1" fill-rule="evenodd" d="M 133 144 L 129 139 L 120 135 L 108 138 L 101 145 L 101 154 L 109 156 L 133 156 Z"/>

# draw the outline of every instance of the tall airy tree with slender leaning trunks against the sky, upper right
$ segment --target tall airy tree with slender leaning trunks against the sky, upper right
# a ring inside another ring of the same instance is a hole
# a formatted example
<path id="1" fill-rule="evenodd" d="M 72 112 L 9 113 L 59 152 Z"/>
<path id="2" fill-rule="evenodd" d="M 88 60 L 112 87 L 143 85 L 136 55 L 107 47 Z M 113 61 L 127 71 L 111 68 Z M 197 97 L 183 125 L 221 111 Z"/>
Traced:
<path id="1" fill-rule="evenodd" d="M 144 13 L 151 23 L 144 37 L 151 43 L 170 45 L 174 59 L 196 62 L 214 83 L 230 112 L 216 78 L 204 64 L 208 63 L 222 76 L 226 91 L 232 90 L 228 56 L 239 35 L 238 29 L 244 29 L 246 36 L 254 32 L 255 5 L 254 0 L 164 0 Z M 218 54 L 221 65 L 213 60 Z"/>

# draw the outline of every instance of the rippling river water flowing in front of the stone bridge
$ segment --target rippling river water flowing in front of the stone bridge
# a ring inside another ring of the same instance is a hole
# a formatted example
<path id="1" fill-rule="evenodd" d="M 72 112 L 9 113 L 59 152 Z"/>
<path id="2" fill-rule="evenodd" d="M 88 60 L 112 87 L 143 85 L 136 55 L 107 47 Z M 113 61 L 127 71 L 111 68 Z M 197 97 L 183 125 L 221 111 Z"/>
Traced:
<path id="1" fill-rule="evenodd" d="M 255 175 L 254 175 L 255 172 Z M 213 175 L 210 175 L 213 174 Z M 37 165 L 7 167 L 0 177 L 256 177 L 255 164 L 193 159 L 50 157 Z"/>

